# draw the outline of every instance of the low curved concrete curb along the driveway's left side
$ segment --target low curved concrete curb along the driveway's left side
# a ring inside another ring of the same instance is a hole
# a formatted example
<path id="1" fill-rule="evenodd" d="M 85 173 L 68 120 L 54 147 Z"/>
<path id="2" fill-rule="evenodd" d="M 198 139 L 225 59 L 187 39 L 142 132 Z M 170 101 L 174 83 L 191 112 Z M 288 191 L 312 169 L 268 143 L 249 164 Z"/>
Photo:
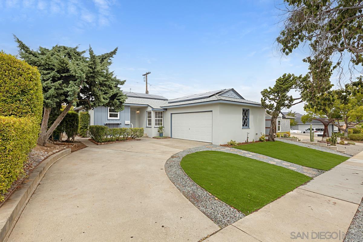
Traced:
<path id="1" fill-rule="evenodd" d="M 44 159 L 36 168 L 19 184 L 17 189 L 0 208 L 0 241 L 7 240 L 13 226 L 23 211 L 29 198 L 37 188 L 49 167 L 57 160 L 68 155 L 71 149 L 64 149 Z"/>

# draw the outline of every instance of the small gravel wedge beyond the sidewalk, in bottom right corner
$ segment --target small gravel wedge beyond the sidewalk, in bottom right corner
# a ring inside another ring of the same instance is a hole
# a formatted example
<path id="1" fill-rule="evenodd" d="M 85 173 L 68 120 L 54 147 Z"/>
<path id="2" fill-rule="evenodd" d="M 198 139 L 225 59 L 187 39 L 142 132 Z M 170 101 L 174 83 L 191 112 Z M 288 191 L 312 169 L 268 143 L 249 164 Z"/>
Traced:
<path id="1" fill-rule="evenodd" d="M 348 228 L 344 242 L 363 242 L 363 200 Z"/>

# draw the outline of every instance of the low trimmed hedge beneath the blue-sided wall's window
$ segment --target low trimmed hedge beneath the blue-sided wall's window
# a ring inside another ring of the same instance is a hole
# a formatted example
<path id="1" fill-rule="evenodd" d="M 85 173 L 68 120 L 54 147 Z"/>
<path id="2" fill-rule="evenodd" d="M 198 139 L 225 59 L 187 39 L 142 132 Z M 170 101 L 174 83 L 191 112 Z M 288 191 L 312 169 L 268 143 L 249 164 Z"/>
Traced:
<path id="1" fill-rule="evenodd" d="M 126 140 L 129 137 L 135 139 L 144 135 L 143 128 L 109 128 L 102 125 L 89 126 L 89 132 L 91 138 L 98 143 Z"/>

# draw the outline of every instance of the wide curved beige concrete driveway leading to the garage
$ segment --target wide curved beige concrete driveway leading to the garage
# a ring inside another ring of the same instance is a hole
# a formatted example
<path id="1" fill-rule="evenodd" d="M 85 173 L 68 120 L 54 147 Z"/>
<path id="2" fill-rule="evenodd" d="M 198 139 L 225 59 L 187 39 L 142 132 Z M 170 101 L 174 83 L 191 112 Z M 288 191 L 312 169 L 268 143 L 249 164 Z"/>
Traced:
<path id="1" fill-rule="evenodd" d="M 8 241 L 198 241 L 219 227 L 175 188 L 164 163 L 204 144 L 89 142 L 50 167 Z"/>

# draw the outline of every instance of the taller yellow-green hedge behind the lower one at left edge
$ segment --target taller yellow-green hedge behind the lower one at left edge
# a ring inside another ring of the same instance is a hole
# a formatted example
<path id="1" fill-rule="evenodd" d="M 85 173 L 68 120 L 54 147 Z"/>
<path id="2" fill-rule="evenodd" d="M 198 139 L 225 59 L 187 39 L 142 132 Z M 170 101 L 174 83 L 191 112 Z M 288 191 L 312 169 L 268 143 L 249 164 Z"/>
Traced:
<path id="1" fill-rule="evenodd" d="M 41 121 L 43 93 L 37 67 L 0 52 L 0 115 Z"/>

